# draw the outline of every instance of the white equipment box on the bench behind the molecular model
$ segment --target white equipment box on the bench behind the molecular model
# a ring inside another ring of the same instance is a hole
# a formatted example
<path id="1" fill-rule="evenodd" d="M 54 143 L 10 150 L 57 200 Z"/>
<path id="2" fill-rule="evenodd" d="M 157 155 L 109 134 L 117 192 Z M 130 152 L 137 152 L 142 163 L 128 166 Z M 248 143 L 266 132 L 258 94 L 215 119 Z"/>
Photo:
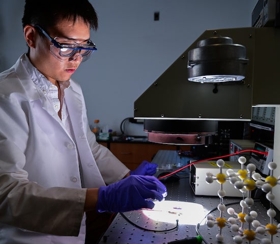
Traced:
<path id="1" fill-rule="evenodd" d="M 193 161 L 194 162 L 194 161 Z M 222 167 L 222 173 L 227 175 L 227 170 L 232 169 L 235 172 L 241 169 L 241 164 L 238 162 L 226 161 Z M 220 168 L 216 165 L 216 161 L 204 161 L 190 166 L 189 182 L 195 195 L 201 196 L 218 196 L 220 184 L 214 180 L 211 184 L 206 182 L 206 173 L 211 172 L 216 176 L 220 172 Z M 226 180 L 222 184 L 223 190 L 226 191 L 227 197 L 242 197 L 242 193 Z"/>

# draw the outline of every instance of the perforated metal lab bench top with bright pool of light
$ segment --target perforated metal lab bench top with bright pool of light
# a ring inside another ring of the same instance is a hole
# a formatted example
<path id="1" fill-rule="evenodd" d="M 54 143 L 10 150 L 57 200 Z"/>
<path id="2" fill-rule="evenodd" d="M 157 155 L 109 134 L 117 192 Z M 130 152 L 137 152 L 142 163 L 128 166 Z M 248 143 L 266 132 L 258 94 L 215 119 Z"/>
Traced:
<path id="1" fill-rule="evenodd" d="M 162 154 L 162 150 L 158 151 L 157 155 L 159 153 Z M 166 155 L 166 162 L 160 162 L 160 170 L 157 171 L 155 176 L 158 176 L 162 172 L 172 172 L 178 169 L 178 165 L 176 166 L 176 164 L 173 164 L 172 168 L 164 168 L 164 166 L 170 164 L 170 158 L 176 154 L 176 151 L 166 150 L 164 153 Z M 157 157 L 154 159 L 157 160 Z M 179 159 L 182 160 L 181 157 Z M 183 159 L 180 166 L 185 166 L 187 163 L 188 159 Z M 168 195 L 164 201 L 155 202 L 153 209 L 140 209 L 118 213 L 100 239 L 99 244 L 167 244 L 186 237 L 195 237 L 198 234 L 203 237 L 202 243 L 206 244 L 235 243 L 233 237 L 238 234 L 232 232 L 229 226 L 221 229 L 224 241 L 218 242 L 216 240 L 216 235 L 219 233 L 217 225 L 213 228 L 209 228 L 206 225 L 206 216 L 209 213 L 214 218 L 219 217 L 220 212 L 217 210 L 217 206 L 220 203 L 220 198 L 217 196 L 195 195 L 190 187 L 188 167 L 180 171 L 178 175 L 180 176 L 180 180 L 164 182 Z M 212 184 L 218 183 L 213 182 Z M 241 199 L 240 197 L 225 197 L 223 198 L 223 204 L 227 208 L 234 208 L 239 213 L 242 212 L 240 206 Z M 256 200 L 251 210 L 257 212 L 258 217 L 256 219 L 261 224 L 267 225 L 269 223 L 270 219 L 266 214 L 267 209 L 261 201 Z M 223 213 L 223 218 L 228 220 L 230 217 L 234 216 L 230 216 L 226 211 Z M 239 225 L 238 222 L 237 224 Z M 277 222 L 273 220 L 273 224 L 277 225 Z M 257 236 L 260 238 L 269 238 L 270 235 L 257 234 Z M 273 241 L 273 243 L 280 243 L 279 234 L 273 236 Z M 244 240 L 243 243 L 248 243 L 248 241 Z M 261 243 L 261 241 L 256 239 L 250 243 L 257 244 Z"/>

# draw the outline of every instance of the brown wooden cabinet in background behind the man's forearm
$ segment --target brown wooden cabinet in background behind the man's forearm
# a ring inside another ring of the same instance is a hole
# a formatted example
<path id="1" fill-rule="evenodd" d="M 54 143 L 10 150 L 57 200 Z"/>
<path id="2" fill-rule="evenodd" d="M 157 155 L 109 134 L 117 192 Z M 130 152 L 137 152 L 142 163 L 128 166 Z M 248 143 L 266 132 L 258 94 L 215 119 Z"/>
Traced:
<path id="1" fill-rule="evenodd" d="M 184 150 L 190 147 L 184 147 Z M 111 152 L 129 169 L 134 170 L 142 161 L 152 161 L 158 150 L 177 150 L 176 145 L 153 144 L 153 143 L 131 143 L 111 142 Z"/>

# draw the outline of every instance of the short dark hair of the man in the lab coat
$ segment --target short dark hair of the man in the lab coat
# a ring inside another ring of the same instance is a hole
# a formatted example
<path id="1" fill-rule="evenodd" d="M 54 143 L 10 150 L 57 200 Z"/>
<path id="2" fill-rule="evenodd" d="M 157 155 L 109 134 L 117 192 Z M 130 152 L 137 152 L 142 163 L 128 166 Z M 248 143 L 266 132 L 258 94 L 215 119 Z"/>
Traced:
<path id="1" fill-rule="evenodd" d="M 48 29 L 62 19 L 75 22 L 77 17 L 81 17 L 90 28 L 97 29 L 97 14 L 88 0 L 25 0 L 22 27 L 37 24 Z"/>

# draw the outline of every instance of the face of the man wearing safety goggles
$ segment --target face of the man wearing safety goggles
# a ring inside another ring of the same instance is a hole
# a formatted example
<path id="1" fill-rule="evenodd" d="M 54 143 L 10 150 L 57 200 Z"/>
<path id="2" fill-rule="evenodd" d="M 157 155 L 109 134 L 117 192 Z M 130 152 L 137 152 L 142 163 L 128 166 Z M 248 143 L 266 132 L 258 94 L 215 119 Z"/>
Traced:
<path id="1" fill-rule="evenodd" d="M 72 20 L 61 20 L 57 25 L 48 30 L 49 36 L 58 37 L 65 44 L 85 44 L 90 39 L 90 27 L 82 19 L 75 23 Z M 52 43 L 46 38 L 36 35 L 35 47 L 30 50 L 32 64 L 53 84 L 56 81 L 66 81 L 75 72 L 81 62 L 81 57 L 58 58 L 50 52 Z M 70 62 L 69 62 L 70 61 Z"/>

